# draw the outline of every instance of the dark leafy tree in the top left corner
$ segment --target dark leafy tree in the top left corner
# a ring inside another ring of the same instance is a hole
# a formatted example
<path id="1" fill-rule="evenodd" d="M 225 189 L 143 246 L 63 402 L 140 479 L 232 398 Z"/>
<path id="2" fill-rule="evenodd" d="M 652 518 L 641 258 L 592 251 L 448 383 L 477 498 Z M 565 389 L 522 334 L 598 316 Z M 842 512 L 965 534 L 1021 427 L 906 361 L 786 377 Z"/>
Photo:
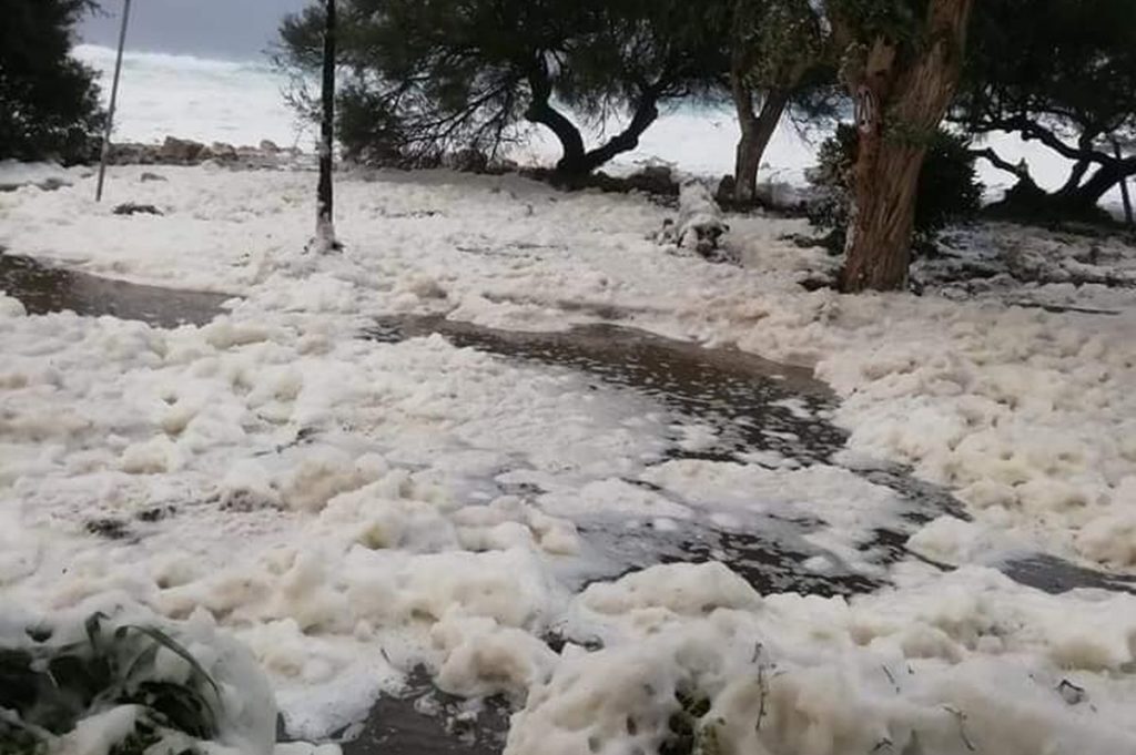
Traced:
<path id="1" fill-rule="evenodd" d="M 0 0 L 0 159 L 85 162 L 103 114 L 94 73 L 69 57 L 91 0 Z"/>

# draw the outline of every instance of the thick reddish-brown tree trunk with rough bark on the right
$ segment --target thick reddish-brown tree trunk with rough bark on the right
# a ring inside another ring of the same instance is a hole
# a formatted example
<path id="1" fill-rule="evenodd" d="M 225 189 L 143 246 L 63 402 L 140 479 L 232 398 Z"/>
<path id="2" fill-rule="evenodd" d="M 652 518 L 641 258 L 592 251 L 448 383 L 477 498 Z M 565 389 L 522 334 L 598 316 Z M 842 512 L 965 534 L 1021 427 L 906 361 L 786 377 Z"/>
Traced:
<path id="1" fill-rule="evenodd" d="M 844 291 L 907 285 L 919 171 L 958 85 L 971 3 L 932 0 L 925 22 L 929 43 L 910 61 L 901 62 L 896 49 L 877 39 L 862 69 L 850 76 L 860 141 Z"/>

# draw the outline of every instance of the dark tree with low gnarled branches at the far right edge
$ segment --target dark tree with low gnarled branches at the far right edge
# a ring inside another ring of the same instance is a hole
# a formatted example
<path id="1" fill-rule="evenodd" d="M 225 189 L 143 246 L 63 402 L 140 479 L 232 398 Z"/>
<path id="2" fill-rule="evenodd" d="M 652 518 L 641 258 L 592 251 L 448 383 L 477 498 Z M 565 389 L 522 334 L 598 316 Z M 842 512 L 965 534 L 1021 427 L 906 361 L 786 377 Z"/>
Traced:
<path id="1" fill-rule="evenodd" d="M 1084 213 L 1136 175 L 1136 2 L 988 0 L 979 3 L 954 119 L 975 134 L 1014 132 L 1068 159 L 1066 184 L 1046 196 L 1028 166 L 992 149 L 1021 181 L 1017 196 L 1045 212 Z"/>

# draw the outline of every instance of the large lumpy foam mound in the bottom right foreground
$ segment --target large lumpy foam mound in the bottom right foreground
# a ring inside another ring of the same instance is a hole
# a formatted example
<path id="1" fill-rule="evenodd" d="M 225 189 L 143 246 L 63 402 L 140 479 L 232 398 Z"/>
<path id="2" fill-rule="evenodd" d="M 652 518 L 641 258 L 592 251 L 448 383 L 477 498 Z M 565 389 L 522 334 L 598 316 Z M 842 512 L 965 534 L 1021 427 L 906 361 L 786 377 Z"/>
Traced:
<path id="1" fill-rule="evenodd" d="M 720 570 L 684 567 L 713 580 Z M 675 579 L 673 567 L 654 567 L 577 601 Z M 610 644 L 565 649 L 515 718 L 506 753 L 1108 755 L 1136 745 L 1122 713 L 1133 691 L 1111 676 L 1134 661 L 1128 596 L 1078 596 L 1070 621 L 1068 598 L 967 568 L 851 602 L 777 595 L 642 620 L 667 602 L 577 612 L 577 632 L 591 627 Z M 1102 635 L 1102 622 L 1113 629 Z"/>

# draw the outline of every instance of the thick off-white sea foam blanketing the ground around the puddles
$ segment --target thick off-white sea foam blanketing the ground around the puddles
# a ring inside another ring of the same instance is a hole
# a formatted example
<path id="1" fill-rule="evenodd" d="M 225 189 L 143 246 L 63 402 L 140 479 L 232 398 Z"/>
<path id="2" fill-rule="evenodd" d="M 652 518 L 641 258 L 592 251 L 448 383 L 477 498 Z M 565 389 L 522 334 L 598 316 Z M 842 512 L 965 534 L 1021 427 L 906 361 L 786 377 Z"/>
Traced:
<path id="1" fill-rule="evenodd" d="M 203 609 L 312 738 L 424 663 L 444 690 L 509 696 L 516 755 L 650 752 L 676 693 L 707 701 L 700 736 L 725 752 L 1136 749 L 1136 598 L 1047 596 L 983 565 L 1136 569 L 1136 292 L 1070 282 L 1130 275 L 1134 250 L 991 227 L 960 254 L 1012 244 L 1042 283 L 810 293 L 797 282 L 833 261 L 780 240 L 799 221 L 732 218 L 744 265 L 711 266 L 648 241 L 667 210 L 642 198 L 437 171 L 343 176 L 346 249 L 321 258 L 303 252 L 311 174 L 148 170 L 167 181 L 112 169 L 103 205 L 81 170 L 0 194 L 12 253 L 242 297 L 176 330 L 0 297 L 6 603 Z M 111 212 L 127 200 L 165 215 Z M 618 318 L 815 368 L 850 463 L 910 464 L 967 504 L 974 521 L 911 543 L 962 568 L 903 561 L 852 599 L 759 596 L 716 563 L 611 564 L 580 590 L 599 512 L 682 527 L 744 489 L 834 523 L 841 552 L 889 494 L 824 465 L 660 463 L 674 428 L 642 396 L 437 336 L 354 337 L 392 313 Z M 543 493 L 492 485 L 518 475 Z"/>

